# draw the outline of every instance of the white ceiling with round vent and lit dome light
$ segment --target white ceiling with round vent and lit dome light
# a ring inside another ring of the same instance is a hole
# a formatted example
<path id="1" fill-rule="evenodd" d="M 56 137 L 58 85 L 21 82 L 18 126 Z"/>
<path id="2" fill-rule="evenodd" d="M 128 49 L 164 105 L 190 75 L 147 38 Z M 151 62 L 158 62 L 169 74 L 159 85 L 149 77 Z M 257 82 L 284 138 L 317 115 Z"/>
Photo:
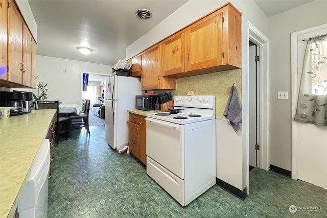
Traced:
<path id="1" fill-rule="evenodd" d="M 313 0 L 254 0 L 268 16 Z M 126 47 L 188 0 L 28 0 L 37 28 L 37 54 L 114 65 L 125 58 Z M 141 20 L 138 9 L 152 12 Z M 90 47 L 85 56 L 76 49 Z"/>

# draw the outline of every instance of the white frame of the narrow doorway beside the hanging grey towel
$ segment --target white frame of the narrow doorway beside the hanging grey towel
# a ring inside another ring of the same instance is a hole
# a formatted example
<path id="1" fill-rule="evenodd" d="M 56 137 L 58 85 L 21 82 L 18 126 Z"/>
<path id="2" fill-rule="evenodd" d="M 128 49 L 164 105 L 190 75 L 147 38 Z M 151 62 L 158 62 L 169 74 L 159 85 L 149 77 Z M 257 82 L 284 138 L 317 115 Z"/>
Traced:
<path id="1" fill-rule="evenodd" d="M 255 28 L 252 23 L 247 21 L 246 29 L 245 29 L 245 45 L 243 48 L 245 61 L 242 64 L 242 129 L 243 129 L 243 157 L 246 157 L 246 166 L 243 167 L 246 170 L 246 187 L 247 187 L 247 195 L 249 195 L 249 40 L 254 42 L 255 44 L 260 45 L 260 62 L 259 62 L 259 70 L 260 70 L 260 84 L 259 84 L 259 101 L 260 101 L 260 168 L 268 171 L 269 169 L 269 158 L 268 158 L 268 150 L 269 150 L 269 39 L 260 32 L 257 28 Z M 243 41 L 244 42 L 244 41 Z M 246 155 L 246 156 L 245 156 Z"/>

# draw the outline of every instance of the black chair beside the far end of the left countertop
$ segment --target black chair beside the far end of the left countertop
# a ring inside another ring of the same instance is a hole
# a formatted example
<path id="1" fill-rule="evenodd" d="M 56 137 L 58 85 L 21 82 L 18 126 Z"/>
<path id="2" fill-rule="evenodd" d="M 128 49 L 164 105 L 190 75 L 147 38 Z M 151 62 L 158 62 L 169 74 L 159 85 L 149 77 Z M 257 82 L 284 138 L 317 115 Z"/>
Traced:
<path id="1" fill-rule="evenodd" d="M 55 139 L 58 144 L 58 136 L 62 133 L 66 133 L 66 138 L 69 138 L 69 117 L 68 116 L 59 116 L 59 101 L 35 101 L 35 109 L 57 109 L 56 114 L 56 127 L 55 127 Z M 63 125 L 60 125 L 63 124 Z M 60 129 L 59 127 L 63 126 L 64 128 Z"/>

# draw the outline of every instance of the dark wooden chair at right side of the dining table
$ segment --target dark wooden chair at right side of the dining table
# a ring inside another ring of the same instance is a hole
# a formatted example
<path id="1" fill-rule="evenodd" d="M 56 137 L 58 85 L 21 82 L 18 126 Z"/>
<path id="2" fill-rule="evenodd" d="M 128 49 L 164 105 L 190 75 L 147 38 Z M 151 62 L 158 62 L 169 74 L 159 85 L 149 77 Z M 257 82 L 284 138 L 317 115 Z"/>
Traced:
<path id="1" fill-rule="evenodd" d="M 77 115 L 69 116 L 69 134 L 71 133 L 72 129 L 79 129 L 85 127 L 87 133 L 90 134 L 90 130 L 88 127 L 88 113 L 90 109 L 90 101 L 85 100 L 83 105 L 83 112 L 80 112 Z"/>

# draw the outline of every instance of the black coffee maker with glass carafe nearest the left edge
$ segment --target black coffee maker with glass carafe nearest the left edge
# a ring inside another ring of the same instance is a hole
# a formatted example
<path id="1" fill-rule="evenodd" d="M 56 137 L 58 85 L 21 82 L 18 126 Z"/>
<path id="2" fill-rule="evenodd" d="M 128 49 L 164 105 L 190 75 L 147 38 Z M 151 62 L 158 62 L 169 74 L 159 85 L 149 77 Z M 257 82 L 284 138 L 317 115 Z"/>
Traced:
<path id="1" fill-rule="evenodd" d="M 22 91 L 0 91 L 0 106 L 12 107 L 10 116 L 24 114 L 25 92 Z"/>

